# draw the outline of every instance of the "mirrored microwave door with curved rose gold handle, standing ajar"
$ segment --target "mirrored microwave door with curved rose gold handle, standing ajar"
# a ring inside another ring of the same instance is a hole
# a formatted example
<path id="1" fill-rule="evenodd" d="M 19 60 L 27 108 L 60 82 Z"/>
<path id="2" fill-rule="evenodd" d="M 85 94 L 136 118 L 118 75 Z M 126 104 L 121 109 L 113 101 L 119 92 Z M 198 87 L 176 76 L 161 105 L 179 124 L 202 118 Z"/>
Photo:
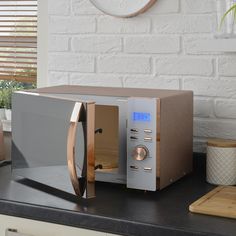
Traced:
<path id="1" fill-rule="evenodd" d="M 13 175 L 93 197 L 94 103 L 17 92 L 12 104 Z"/>

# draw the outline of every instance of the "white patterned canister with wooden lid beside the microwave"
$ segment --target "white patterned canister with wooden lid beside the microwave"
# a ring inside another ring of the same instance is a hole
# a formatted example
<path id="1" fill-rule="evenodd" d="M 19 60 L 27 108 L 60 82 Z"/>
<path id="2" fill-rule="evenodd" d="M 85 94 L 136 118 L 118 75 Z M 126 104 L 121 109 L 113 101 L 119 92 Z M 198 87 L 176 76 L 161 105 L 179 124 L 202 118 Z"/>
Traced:
<path id="1" fill-rule="evenodd" d="M 236 185 L 236 140 L 208 140 L 206 172 L 208 183 Z"/>

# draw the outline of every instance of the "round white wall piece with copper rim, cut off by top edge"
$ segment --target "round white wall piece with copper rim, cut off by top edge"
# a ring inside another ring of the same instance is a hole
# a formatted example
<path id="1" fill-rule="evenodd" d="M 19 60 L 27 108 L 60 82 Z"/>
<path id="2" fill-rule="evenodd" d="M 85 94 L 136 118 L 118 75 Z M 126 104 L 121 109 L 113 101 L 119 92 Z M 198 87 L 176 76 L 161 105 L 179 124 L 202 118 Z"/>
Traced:
<path id="1" fill-rule="evenodd" d="M 90 0 L 90 2 L 108 15 L 131 17 L 145 12 L 156 0 Z"/>

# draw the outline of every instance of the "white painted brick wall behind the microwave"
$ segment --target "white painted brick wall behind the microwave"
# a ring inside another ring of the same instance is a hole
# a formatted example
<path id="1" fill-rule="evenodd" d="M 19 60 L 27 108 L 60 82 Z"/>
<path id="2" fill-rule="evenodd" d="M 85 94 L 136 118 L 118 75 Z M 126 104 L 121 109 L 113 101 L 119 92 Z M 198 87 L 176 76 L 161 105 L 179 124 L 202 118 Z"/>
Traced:
<path id="1" fill-rule="evenodd" d="M 51 85 L 190 89 L 194 151 L 208 137 L 236 139 L 236 54 L 206 52 L 215 47 L 215 0 L 158 0 L 129 19 L 88 0 L 48 2 Z"/>

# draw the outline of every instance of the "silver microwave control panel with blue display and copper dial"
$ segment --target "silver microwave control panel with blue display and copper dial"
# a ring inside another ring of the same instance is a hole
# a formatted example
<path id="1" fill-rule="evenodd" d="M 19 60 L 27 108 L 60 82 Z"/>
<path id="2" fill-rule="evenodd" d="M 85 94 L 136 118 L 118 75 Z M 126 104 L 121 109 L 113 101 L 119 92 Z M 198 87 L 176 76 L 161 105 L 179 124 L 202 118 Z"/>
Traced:
<path id="1" fill-rule="evenodd" d="M 127 187 L 156 190 L 156 98 L 129 98 Z"/>

